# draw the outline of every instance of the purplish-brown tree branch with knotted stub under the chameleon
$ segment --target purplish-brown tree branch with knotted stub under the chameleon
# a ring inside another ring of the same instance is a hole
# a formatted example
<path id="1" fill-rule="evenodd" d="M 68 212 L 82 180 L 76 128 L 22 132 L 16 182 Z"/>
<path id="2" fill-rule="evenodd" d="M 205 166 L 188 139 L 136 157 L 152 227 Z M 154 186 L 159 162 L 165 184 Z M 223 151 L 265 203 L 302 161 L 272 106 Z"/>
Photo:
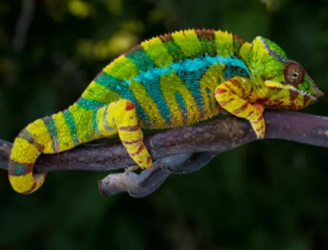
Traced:
<path id="1" fill-rule="evenodd" d="M 328 119 L 292 111 L 266 110 L 265 138 L 290 140 L 328 147 Z M 156 190 L 171 173 L 190 173 L 217 154 L 255 141 L 248 121 L 234 116 L 219 117 L 208 123 L 172 128 L 145 136 L 154 162 L 151 170 L 112 174 L 99 182 L 100 192 L 113 195 L 128 191 L 131 196 L 146 196 Z M 11 143 L 0 140 L 0 169 L 7 168 Z M 125 168 L 134 162 L 123 145 L 80 145 L 72 150 L 41 155 L 36 172 L 61 170 L 107 171 Z"/>

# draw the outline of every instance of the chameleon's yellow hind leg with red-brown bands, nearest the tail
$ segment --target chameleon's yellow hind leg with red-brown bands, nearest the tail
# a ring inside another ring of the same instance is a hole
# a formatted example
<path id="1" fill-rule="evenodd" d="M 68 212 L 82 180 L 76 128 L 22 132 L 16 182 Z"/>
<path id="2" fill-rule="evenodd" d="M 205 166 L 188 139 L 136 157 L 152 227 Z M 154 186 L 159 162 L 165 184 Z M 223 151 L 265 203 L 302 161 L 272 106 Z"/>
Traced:
<path id="1" fill-rule="evenodd" d="M 144 135 L 138 125 L 136 109 L 132 101 L 121 99 L 100 108 L 97 119 L 98 124 L 101 124 L 99 131 L 104 136 L 118 132 L 128 154 L 139 167 L 142 169 L 152 167 L 152 160 L 143 142 Z"/>

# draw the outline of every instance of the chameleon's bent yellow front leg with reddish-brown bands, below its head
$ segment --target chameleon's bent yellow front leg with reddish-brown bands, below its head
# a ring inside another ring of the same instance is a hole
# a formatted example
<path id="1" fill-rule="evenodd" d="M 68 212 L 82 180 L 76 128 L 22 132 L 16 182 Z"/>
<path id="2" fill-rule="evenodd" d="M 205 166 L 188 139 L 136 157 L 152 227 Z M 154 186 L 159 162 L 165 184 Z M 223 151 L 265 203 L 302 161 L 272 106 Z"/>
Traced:
<path id="1" fill-rule="evenodd" d="M 257 139 L 263 139 L 265 134 L 265 121 L 263 106 L 250 104 L 245 97 L 249 94 L 250 84 L 245 77 L 235 76 L 220 84 L 215 90 L 215 98 L 219 105 L 228 112 L 250 121 Z"/>

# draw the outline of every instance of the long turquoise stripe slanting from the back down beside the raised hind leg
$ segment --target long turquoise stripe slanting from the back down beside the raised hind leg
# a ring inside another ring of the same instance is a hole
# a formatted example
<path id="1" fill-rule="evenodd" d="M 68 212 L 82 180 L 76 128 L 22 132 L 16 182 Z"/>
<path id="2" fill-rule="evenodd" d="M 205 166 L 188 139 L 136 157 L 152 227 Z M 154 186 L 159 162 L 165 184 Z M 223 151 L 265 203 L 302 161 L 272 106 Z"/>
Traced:
<path id="1" fill-rule="evenodd" d="M 130 82 L 128 80 L 120 80 L 114 76 L 107 74 L 106 72 L 102 72 L 98 75 L 98 77 L 94 80 L 96 83 L 105 86 L 116 93 L 118 93 L 123 99 L 128 99 L 132 101 L 136 107 L 136 112 L 141 121 L 146 126 L 150 126 L 150 119 L 146 111 L 141 107 L 138 100 L 135 98 L 132 91 L 129 89 L 128 85 Z"/>

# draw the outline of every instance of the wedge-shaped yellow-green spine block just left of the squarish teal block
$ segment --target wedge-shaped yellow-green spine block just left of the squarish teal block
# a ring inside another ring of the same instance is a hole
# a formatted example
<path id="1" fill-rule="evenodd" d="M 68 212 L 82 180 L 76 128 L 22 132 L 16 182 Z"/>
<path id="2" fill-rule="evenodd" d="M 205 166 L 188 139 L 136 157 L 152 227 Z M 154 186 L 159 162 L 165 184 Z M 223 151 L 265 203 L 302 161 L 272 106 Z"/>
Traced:
<path id="1" fill-rule="evenodd" d="M 128 77 L 138 75 L 139 71 L 135 64 L 125 55 L 121 55 L 104 68 L 104 71 L 118 79 L 124 80 Z"/>

